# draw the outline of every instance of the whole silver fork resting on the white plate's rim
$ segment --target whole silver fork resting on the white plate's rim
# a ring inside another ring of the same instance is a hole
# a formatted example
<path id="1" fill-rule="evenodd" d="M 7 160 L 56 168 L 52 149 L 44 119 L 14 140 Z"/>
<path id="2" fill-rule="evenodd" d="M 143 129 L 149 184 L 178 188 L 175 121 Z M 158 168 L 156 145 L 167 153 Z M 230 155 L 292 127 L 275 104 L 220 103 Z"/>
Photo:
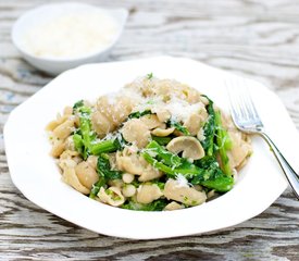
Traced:
<path id="1" fill-rule="evenodd" d="M 260 135 L 270 146 L 281 167 L 283 169 L 294 194 L 299 199 L 299 176 L 287 162 L 285 157 L 265 134 L 263 123 L 250 97 L 245 79 L 232 79 L 226 82 L 231 100 L 231 113 L 238 129 L 248 134 Z"/>

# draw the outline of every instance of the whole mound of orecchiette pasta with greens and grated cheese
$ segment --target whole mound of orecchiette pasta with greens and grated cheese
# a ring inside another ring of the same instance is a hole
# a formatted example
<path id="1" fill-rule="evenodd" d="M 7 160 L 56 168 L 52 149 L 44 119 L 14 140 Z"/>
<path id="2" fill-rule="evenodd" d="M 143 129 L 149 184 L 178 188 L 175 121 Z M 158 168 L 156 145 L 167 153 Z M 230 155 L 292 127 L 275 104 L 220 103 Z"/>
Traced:
<path id="1" fill-rule="evenodd" d="M 152 74 L 66 107 L 46 129 L 66 184 L 129 210 L 212 200 L 232 189 L 251 154 L 249 137 L 210 98 Z"/>

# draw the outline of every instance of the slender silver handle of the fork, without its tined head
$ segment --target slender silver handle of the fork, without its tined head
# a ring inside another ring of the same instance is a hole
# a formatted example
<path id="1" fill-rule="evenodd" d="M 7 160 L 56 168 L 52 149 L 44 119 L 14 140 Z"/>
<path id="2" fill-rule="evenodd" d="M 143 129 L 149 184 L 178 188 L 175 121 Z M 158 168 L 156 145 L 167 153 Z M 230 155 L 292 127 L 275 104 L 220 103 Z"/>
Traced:
<path id="1" fill-rule="evenodd" d="M 281 167 L 283 169 L 283 171 L 288 179 L 288 183 L 292 188 L 294 194 L 296 195 L 297 199 L 299 199 L 299 176 L 298 176 L 298 174 L 294 171 L 294 169 L 287 162 L 287 160 L 282 154 L 282 152 L 278 150 L 276 145 L 272 141 L 272 139 L 263 132 L 261 132 L 260 134 L 265 139 L 265 141 L 269 144 L 276 160 L 278 161 Z"/>

